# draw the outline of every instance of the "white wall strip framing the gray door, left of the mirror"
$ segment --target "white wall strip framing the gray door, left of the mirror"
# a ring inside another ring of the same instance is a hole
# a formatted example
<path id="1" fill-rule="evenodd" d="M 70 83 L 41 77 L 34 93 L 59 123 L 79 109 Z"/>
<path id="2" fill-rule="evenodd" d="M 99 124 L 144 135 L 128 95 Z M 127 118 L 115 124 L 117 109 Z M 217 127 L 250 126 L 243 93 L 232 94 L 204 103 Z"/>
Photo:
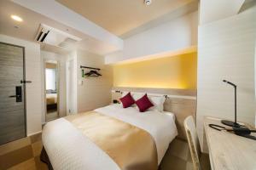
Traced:
<path id="1" fill-rule="evenodd" d="M 0 35 L 0 42 L 11 43 L 25 47 L 26 80 L 26 128 L 27 135 L 42 131 L 41 111 L 41 71 L 40 71 L 40 45 L 27 42 L 15 37 Z"/>

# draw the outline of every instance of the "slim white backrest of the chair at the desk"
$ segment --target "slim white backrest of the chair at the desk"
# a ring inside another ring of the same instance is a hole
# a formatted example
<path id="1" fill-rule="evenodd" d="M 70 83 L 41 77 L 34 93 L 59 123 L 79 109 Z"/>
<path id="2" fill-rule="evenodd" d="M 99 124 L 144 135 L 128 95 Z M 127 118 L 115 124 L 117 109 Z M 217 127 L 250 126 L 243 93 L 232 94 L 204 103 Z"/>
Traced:
<path id="1" fill-rule="evenodd" d="M 193 161 L 193 167 L 195 170 L 200 170 L 199 156 L 201 155 L 201 150 L 193 116 L 188 116 L 184 120 L 184 127 L 189 142 L 189 150 Z"/>

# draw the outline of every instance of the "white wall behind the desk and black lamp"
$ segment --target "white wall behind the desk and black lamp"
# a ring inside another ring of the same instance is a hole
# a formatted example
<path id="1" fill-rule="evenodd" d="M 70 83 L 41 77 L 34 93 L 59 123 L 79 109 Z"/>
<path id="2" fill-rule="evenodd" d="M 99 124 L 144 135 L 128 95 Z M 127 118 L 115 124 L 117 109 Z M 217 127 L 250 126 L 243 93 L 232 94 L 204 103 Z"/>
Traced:
<path id="1" fill-rule="evenodd" d="M 237 84 L 237 119 L 253 124 L 256 8 L 199 27 L 197 128 L 203 141 L 204 116 L 234 120 Z M 204 144 L 205 146 L 205 144 Z"/>

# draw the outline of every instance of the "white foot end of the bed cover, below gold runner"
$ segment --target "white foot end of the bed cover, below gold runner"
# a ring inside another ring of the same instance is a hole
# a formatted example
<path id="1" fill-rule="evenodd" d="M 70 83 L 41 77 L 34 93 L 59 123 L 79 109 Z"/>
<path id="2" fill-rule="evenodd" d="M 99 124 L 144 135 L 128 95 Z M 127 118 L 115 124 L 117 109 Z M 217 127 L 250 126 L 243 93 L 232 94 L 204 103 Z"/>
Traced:
<path id="1" fill-rule="evenodd" d="M 107 153 L 65 118 L 48 122 L 42 141 L 55 170 L 120 170 Z"/>

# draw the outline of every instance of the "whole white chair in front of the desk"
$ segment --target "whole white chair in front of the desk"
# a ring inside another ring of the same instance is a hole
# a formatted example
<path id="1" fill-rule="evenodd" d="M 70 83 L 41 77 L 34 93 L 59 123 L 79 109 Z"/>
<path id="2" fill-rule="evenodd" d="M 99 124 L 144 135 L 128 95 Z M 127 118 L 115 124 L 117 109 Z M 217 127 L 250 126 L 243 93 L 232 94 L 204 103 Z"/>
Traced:
<path id="1" fill-rule="evenodd" d="M 201 153 L 199 139 L 196 133 L 196 127 L 193 116 L 188 116 L 184 120 L 184 127 L 189 142 L 189 150 L 194 170 L 211 169 L 208 155 Z"/>

